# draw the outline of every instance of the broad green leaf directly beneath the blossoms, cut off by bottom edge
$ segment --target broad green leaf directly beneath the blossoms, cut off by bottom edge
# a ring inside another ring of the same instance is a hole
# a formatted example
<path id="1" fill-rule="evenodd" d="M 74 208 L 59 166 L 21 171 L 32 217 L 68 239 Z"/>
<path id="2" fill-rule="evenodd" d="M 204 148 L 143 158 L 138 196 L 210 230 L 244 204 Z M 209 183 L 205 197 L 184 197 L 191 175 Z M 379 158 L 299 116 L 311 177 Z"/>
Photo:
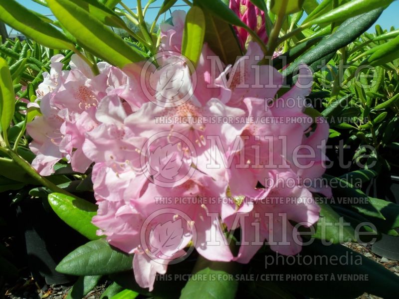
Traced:
<path id="1" fill-rule="evenodd" d="M 237 272 L 237 267 L 238 265 L 235 262 L 213 262 L 199 256 L 193 273 L 195 275 L 203 275 L 206 277 L 217 277 L 218 275 L 220 275 L 221 277 L 233 277 Z M 183 288 L 180 298 L 235 298 L 237 287 L 238 282 L 235 279 L 223 279 L 214 281 L 189 280 L 186 286 Z"/>

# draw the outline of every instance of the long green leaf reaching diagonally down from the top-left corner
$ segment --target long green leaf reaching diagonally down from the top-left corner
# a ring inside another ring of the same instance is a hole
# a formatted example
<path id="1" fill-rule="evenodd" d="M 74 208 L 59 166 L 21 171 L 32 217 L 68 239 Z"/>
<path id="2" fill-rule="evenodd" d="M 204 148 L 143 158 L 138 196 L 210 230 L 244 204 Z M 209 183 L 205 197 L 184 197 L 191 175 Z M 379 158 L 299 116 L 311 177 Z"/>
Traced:
<path id="1" fill-rule="evenodd" d="M 59 30 L 44 22 L 15 0 L 0 2 L 0 19 L 46 47 L 52 49 L 75 48 Z"/>

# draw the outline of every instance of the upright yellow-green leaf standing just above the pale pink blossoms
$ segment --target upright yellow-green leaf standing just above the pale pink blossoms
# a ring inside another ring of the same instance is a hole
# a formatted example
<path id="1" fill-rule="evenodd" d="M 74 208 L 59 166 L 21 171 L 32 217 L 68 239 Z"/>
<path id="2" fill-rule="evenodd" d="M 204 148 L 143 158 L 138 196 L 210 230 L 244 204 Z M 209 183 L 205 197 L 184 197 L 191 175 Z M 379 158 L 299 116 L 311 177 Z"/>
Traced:
<path id="1" fill-rule="evenodd" d="M 205 36 L 205 16 L 198 6 L 190 8 L 183 31 L 182 54 L 197 65 Z M 194 71 L 194 70 L 192 70 Z"/>

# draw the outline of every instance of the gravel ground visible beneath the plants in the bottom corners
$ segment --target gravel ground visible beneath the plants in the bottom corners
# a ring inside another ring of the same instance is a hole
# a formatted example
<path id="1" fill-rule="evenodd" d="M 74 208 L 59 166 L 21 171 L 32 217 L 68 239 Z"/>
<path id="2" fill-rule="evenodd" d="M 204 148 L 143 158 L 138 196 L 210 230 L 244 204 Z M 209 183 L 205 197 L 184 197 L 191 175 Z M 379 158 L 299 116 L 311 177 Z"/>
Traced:
<path id="1" fill-rule="evenodd" d="M 357 243 L 345 244 L 345 246 L 355 250 L 364 256 L 375 260 L 382 264 L 385 268 L 394 272 L 399 276 L 399 262 L 382 258 L 371 252 L 370 247 L 363 246 Z M 101 282 L 101 281 L 100 281 Z M 93 291 L 91 291 L 84 299 L 99 299 L 105 289 L 111 284 L 110 281 L 102 281 Z M 6 286 L 6 299 L 66 299 L 69 290 L 72 285 L 69 286 L 44 286 L 40 287 L 32 279 L 21 279 L 15 286 Z M 358 299 L 380 299 L 380 297 L 363 294 Z"/>

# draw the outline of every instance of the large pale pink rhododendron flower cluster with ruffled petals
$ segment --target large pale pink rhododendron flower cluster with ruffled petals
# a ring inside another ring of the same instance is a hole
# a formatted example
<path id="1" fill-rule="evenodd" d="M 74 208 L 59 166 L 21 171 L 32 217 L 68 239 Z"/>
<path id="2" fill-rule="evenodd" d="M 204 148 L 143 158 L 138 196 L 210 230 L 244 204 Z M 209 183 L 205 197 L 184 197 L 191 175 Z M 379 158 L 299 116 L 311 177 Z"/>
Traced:
<path id="1" fill-rule="evenodd" d="M 258 10 L 241 2 L 230 5 L 246 5 L 243 17 L 253 22 Z M 193 248 L 208 260 L 240 263 L 264 241 L 281 254 L 298 253 L 301 238 L 290 221 L 315 224 L 311 192 L 330 193 L 304 183 L 324 173 L 329 132 L 304 114 L 310 70 L 302 66 L 295 86 L 276 96 L 283 77 L 258 65 L 263 53 L 249 42 L 232 66 L 205 43 L 193 71 L 180 55 L 184 19 L 175 11 L 174 25 L 161 26 L 158 68 L 99 63 L 93 75 L 77 56 L 70 70 L 53 57 L 38 89 L 42 116 L 28 126 L 41 174 L 61 158 L 78 172 L 93 164 L 93 223 L 111 245 L 134 254 L 135 279 L 150 290 L 157 273 Z M 236 229 L 241 244 L 233 255 L 227 236 Z"/>

